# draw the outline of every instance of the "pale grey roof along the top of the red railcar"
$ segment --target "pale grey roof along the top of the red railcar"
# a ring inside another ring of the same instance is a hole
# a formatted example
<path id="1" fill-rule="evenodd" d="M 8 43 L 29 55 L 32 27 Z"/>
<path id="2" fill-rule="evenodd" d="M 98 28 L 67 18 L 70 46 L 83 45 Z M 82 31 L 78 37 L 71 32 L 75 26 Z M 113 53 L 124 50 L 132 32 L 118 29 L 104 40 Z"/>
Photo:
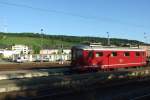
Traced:
<path id="1" fill-rule="evenodd" d="M 73 48 L 82 50 L 108 50 L 108 51 L 145 51 L 141 48 L 129 48 L 129 47 L 110 47 L 110 46 L 87 46 L 87 45 L 77 45 Z"/>

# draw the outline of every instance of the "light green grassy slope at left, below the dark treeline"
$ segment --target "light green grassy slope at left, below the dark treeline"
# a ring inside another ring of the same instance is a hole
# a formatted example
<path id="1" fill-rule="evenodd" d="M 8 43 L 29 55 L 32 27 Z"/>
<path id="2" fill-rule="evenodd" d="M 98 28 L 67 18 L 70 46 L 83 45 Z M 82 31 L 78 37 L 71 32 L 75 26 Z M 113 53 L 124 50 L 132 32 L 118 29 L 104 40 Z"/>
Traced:
<path id="1" fill-rule="evenodd" d="M 49 47 L 54 47 L 58 44 L 64 44 L 66 46 L 72 45 L 69 42 L 61 41 L 61 40 L 54 40 L 54 39 L 42 39 L 42 38 L 34 38 L 34 37 L 11 37 L 11 36 L 4 36 L 0 39 L 0 43 L 4 45 L 13 45 L 13 44 L 25 44 L 28 46 L 37 46 L 40 47 L 41 44 Z"/>

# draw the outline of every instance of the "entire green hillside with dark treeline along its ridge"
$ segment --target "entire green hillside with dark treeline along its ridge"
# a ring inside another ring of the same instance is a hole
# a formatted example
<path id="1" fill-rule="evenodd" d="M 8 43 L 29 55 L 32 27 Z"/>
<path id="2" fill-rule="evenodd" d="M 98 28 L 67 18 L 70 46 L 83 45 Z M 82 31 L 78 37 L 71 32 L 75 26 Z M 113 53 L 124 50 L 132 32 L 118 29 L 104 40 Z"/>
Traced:
<path id="1" fill-rule="evenodd" d="M 0 48 L 11 48 L 14 44 L 25 44 L 39 52 L 40 48 L 61 48 L 63 44 L 64 48 L 70 48 L 72 45 L 81 44 L 84 42 L 101 42 L 103 45 L 107 45 L 106 38 L 98 37 L 78 37 L 78 36 L 60 36 L 60 35 L 44 35 L 38 33 L 0 33 Z M 127 39 L 114 39 L 111 38 L 111 44 L 123 45 L 123 44 L 144 44 L 143 42 Z"/>

